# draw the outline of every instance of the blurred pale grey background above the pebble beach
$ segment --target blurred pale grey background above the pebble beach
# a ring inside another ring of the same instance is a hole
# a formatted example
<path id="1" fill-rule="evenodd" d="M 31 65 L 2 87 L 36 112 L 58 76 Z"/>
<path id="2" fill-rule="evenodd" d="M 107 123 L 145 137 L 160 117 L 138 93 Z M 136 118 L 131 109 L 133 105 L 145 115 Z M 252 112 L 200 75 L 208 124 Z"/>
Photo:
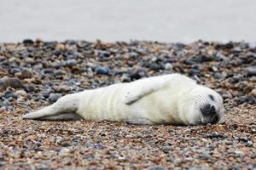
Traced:
<path id="1" fill-rule="evenodd" d="M 256 42 L 253 0 L 0 0 L 0 42 Z"/>

